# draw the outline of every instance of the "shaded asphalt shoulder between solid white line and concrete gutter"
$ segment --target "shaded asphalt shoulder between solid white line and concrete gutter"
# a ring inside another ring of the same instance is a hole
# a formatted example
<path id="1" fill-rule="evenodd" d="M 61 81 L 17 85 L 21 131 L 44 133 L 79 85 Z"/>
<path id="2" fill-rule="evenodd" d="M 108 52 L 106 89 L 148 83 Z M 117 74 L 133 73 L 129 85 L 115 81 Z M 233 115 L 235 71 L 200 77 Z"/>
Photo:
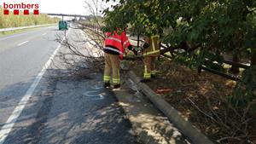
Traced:
<path id="1" fill-rule="evenodd" d="M 102 74 L 81 78 L 50 69 L 4 143 L 133 144 L 137 139 L 113 92 L 102 87 Z"/>

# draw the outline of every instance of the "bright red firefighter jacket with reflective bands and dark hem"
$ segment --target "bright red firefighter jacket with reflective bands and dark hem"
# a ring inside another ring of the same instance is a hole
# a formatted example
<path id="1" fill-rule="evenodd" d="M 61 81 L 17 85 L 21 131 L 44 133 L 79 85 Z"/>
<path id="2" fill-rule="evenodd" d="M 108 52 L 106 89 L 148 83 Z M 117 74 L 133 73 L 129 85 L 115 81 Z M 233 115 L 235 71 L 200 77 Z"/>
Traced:
<path id="1" fill-rule="evenodd" d="M 119 55 L 122 60 L 125 49 L 131 45 L 128 37 L 126 37 L 125 31 L 120 34 L 117 32 L 113 32 L 113 34 L 107 32 L 106 36 L 104 52 L 112 55 Z"/>

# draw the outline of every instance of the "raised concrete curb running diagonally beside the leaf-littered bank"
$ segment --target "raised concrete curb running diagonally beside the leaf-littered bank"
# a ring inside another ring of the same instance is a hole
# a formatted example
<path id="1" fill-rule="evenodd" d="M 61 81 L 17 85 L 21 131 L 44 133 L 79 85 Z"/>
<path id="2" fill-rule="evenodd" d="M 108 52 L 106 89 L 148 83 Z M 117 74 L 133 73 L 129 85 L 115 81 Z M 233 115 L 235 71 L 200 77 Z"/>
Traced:
<path id="1" fill-rule="evenodd" d="M 188 120 L 183 118 L 180 112 L 178 112 L 174 107 L 168 104 L 160 96 L 156 95 L 154 91 L 148 87 L 147 84 L 140 83 L 141 78 L 138 78 L 134 72 L 129 71 L 125 73 L 125 76 L 128 78 L 125 79 L 125 83 L 131 82 L 132 87 L 142 92 L 145 97 L 147 97 L 148 100 L 153 103 L 154 107 L 157 107 L 160 112 L 164 113 L 166 118 L 170 119 L 172 124 L 174 124 L 177 129 L 180 130 L 181 133 L 183 133 L 183 135 L 189 140 L 189 142 L 196 144 L 213 143 L 207 138 L 206 135 L 203 135 L 200 130 L 196 129 L 195 126 L 193 126 Z"/>

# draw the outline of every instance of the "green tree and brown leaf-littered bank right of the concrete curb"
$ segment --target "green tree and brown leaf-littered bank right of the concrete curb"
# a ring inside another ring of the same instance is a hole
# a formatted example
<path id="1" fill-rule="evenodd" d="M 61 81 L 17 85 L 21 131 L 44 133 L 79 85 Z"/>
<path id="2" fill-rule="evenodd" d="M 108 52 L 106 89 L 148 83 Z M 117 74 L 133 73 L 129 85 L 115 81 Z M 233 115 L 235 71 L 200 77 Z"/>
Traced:
<path id="1" fill-rule="evenodd" d="M 171 60 L 159 61 L 160 81 L 149 86 L 171 89 L 162 96 L 212 141 L 256 143 L 256 1 L 119 1 L 104 14 L 105 32 L 129 26 L 135 36 L 160 34 Z M 250 66 L 227 70 L 227 57 Z M 240 79 L 197 73 L 201 66 Z"/>

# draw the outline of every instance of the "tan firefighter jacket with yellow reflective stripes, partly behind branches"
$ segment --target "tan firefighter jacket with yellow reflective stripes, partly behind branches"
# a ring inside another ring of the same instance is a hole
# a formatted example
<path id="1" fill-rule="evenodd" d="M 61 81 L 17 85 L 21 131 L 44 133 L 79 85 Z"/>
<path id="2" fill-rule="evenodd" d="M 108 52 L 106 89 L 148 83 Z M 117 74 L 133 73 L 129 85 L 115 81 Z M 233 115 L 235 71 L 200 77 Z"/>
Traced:
<path id="1" fill-rule="evenodd" d="M 158 35 L 146 37 L 143 49 L 143 56 L 159 56 L 160 55 L 160 37 Z"/>

